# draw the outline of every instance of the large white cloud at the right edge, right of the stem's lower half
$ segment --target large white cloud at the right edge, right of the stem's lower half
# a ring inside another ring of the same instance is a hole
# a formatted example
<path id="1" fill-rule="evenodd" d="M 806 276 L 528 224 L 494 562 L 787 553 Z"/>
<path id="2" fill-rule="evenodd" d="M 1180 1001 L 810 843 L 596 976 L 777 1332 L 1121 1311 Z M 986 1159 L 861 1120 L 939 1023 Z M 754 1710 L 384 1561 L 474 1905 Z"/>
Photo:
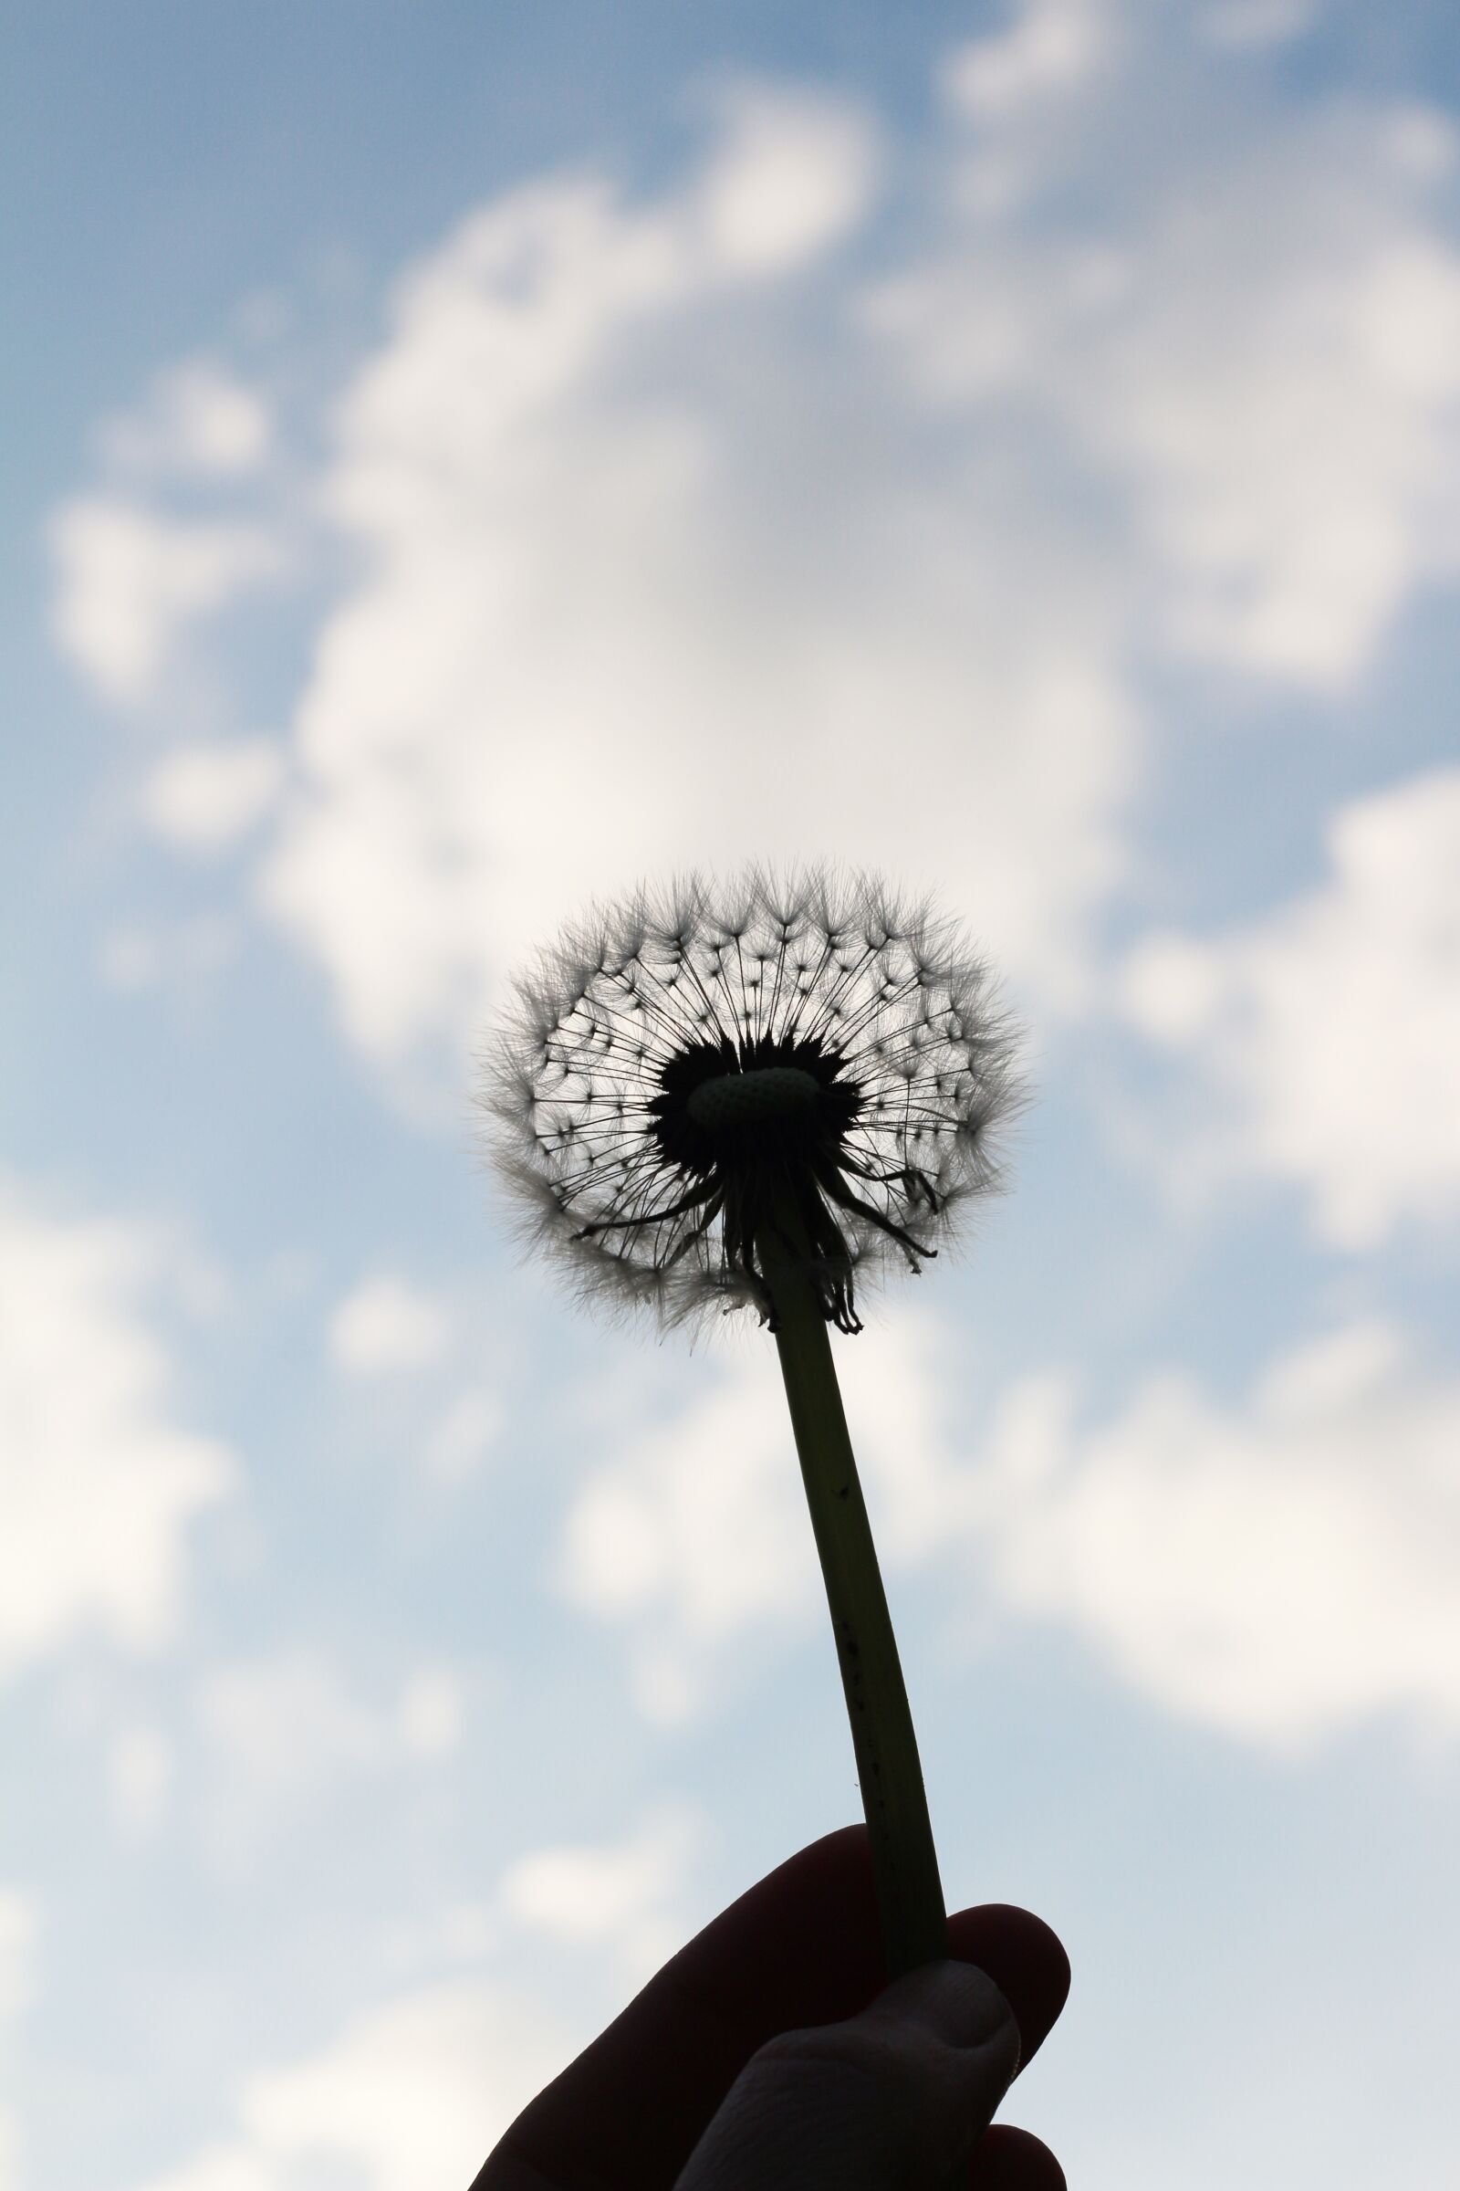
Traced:
<path id="1" fill-rule="evenodd" d="M 1460 1385 L 1381 1326 L 1278 1358 L 1230 1411 L 1162 1374 L 1081 1433 L 1033 1378 L 978 1496 L 1005 1606 L 1182 1718 L 1274 1748 L 1379 1711 L 1460 1733 Z"/>

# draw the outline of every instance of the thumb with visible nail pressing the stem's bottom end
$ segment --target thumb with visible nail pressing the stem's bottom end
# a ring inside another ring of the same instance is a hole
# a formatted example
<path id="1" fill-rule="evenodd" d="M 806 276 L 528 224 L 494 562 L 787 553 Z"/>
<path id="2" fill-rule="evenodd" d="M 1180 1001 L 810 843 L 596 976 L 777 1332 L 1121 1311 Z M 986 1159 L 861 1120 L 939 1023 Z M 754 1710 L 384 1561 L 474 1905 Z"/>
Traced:
<path id="1" fill-rule="evenodd" d="M 751 2055 L 676 2191 L 946 2191 L 1020 2060 L 972 1963 L 928 1963 L 841 2024 Z"/>

